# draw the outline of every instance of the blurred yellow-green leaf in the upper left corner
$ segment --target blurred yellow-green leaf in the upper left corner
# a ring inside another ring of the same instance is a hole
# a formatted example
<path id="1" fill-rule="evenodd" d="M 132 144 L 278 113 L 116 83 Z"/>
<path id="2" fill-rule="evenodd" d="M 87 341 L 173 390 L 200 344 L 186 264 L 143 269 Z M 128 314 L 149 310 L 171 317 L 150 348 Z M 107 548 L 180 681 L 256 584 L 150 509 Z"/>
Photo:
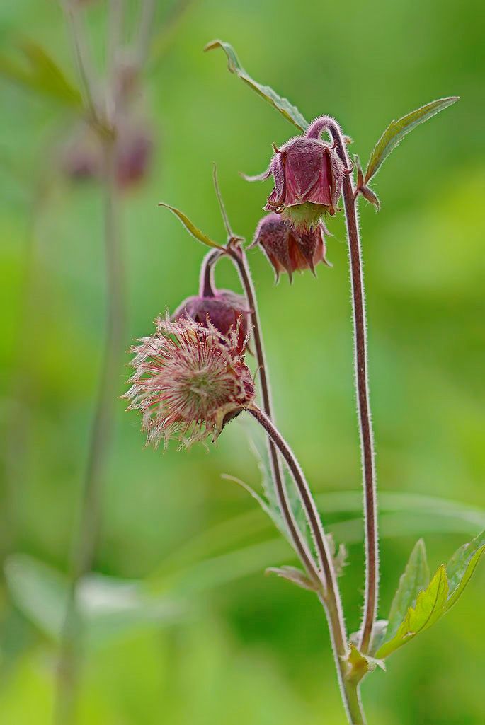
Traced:
<path id="1" fill-rule="evenodd" d="M 82 96 L 78 88 L 70 83 L 42 46 L 33 41 L 24 41 L 20 49 L 25 57 L 23 64 L 0 55 L 1 75 L 68 107 L 82 107 Z"/>

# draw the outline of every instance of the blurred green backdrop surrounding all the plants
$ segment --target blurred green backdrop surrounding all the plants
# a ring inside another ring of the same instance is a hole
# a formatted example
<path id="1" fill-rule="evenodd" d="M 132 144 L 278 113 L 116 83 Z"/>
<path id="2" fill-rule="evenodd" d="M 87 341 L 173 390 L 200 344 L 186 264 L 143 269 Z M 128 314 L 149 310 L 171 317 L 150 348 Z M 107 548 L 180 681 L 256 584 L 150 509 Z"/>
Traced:
<path id="1" fill-rule="evenodd" d="M 86 7 L 100 61 L 105 5 Z M 136 3 L 127 5 L 134 17 Z M 158 27 L 168 9 L 160 3 Z M 293 134 L 228 74 L 221 51 L 202 54 L 207 41 L 231 42 L 248 71 L 307 118 L 335 115 L 362 159 L 391 118 L 461 96 L 388 159 L 375 183 L 381 212 L 361 204 L 383 493 L 381 616 L 420 534 L 436 568 L 484 519 L 481 9 L 473 0 L 194 2 L 147 68 L 155 157 L 143 183 L 123 195 L 128 347 L 150 333 L 155 315 L 195 294 L 205 253 L 157 202 L 182 208 L 223 241 L 215 161 L 233 226 L 250 239 L 270 187 L 250 186 L 237 172 L 258 173 L 272 141 Z M 56 2 L 4 3 L 0 22 L 5 55 L 28 36 L 76 78 Z M 96 183 L 68 183 L 56 172 L 57 141 L 72 117 L 7 80 L 0 94 L 1 553 L 8 575 L 0 589 L 0 721 L 44 725 L 52 722 L 63 577 L 101 360 L 102 199 Z M 343 221 L 329 227 L 334 266 L 319 268 L 317 280 L 306 273 L 291 287 L 286 278 L 274 286 L 262 254 L 252 252 L 250 262 L 277 420 L 324 494 L 325 523 L 349 542 L 341 587 L 353 631 L 363 558 L 349 281 Z M 218 280 L 237 285 L 227 264 Z M 127 360 L 113 369 L 120 393 Z M 343 723 L 317 600 L 263 576 L 266 566 L 293 563 L 290 551 L 255 502 L 221 479 L 231 473 L 258 486 L 249 429 L 240 420 L 208 453 L 171 445 L 163 455 L 144 449 L 136 417 L 119 402 L 97 576 L 83 587 L 89 641 L 81 724 Z M 364 683 L 371 725 L 485 723 L 484 581 L 482 566 L 444 621 L 391 658 L 387 674 Z"/>

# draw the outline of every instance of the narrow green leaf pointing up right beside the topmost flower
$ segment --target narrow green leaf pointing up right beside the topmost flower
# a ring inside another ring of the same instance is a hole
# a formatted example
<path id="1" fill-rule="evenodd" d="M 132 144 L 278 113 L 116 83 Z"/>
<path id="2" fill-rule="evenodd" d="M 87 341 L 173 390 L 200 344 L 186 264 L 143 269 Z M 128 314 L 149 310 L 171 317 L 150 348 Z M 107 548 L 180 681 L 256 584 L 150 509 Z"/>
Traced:
<path id="1" fill-rule="evenodd" d="M 439 113 L 444 108 L 451 106 L 457 100 L 458 96 L 450 96 L 449 98 L 441 98 L 437 101 L 431 101 L 431 103 L 428 103 L 421 108 L 417 108 L 415 111 L 399 118 L 399 120 L 391 121 L 372 151 L 367 165 L 367 171 L 365 172 L 364 184 L 367 184 L 372 176 L 375 176 L 375 174 L 378 173 L 378 170 L 385 159 L 391 151 L 401 143 L 404 136 L 406 136 L 410 130 L 420 123 L 428 120 L 428 118 L 436 115 L 436 113 Z"/>

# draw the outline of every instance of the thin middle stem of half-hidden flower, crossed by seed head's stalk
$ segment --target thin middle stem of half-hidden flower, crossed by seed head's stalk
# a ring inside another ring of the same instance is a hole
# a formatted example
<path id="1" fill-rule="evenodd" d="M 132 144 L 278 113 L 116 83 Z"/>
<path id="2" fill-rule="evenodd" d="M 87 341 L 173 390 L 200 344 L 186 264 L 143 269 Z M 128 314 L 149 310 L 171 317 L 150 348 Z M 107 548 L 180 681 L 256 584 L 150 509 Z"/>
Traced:
<path id="1" fill-rule="evenodd" d="M 256 291 L 253 286 L 253 281 L 250 276 L 248 267 L 248 261 L 245 256 L 245 252 L 240 247 L 234 248 L 229 242 L 227 247 L 227 254 L 231 257 L 236 265 L 237 271 L 240 276 L 243 289 L 245 291 L 245 297 L 248 302 L 250 309 L 251 323 L 253 326 L 253 339 L 254 347 L 256 349 L 256 360 L 258 362 L 258 375 L 261 384 L 261 399 L 263 403 L 264 413 L 267 418 L 272 420 L 272 401 L 271 392 L 269 389 L 269 381 L 266 370 L 266 360 L 264 355 L 263 339 L 261 336 L 261 326 L 259 324 L 258 305 L 256 301 Z M 282 517 L 288 526 L 290 537 L 293 541 L 296 552 L 301 558 L 303 566 L 306 568 L 310 578 L 314 581 L 322 581 L 322 574 L 318 571 L 314 558 L 309 551 L 301 531 L 298 529 L 293 511 L 291 510 L 290 501 L 288 500 L 288 494 L 283 483 L 282 469 L 280 465 L 280 459 L 277 454 L 277 449 L 272 441 L 271 436 L 268 436 L 268 447 L 269 447 L 269 460 L 272 471 L 272 479 L 274 482 L 274 488 L 277 494 L 278 505 L 282 513 Z"/>

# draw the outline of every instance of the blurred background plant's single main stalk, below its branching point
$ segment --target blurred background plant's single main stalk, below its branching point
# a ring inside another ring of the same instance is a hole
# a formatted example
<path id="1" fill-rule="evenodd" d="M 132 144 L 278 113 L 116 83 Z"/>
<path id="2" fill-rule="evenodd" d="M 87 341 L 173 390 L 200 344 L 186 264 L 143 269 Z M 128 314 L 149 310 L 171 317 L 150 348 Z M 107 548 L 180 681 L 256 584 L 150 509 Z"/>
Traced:
<path id="1" fill-rule="evenodd" d="M 104 139 L 105 182 L 105 252 L 107 275 L 107 333 L 105 353 L 99 378 L 99 389 L 86 475 L 83 482 L 81 510 L 71 561 L 71 580 L 68 605 L 62 628 L 60 658 L 57 674 L 57 700 L 54 722 L 68 725 L 75 721 L 76 691 L 79 679 L 79 650 L 83 622 L 78 610 L 78 584 L 91 569 L 99 534 L 102 476 L 113 434 L 115 403 L 120 382 L 120 367 L 124 344 L 124 283 L 121 254 L 119 212 L 115 180 L 115 141 Z"/>

